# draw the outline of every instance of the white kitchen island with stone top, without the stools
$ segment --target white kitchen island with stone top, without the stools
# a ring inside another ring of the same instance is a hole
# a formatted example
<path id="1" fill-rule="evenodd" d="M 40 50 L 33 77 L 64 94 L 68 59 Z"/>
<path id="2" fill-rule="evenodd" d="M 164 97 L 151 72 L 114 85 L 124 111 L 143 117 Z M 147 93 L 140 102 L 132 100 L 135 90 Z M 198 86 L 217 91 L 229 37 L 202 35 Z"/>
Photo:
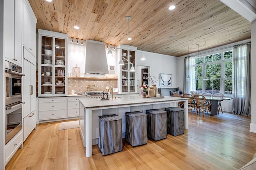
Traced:
<path id="1" fill-rule="evenodd" d="M 110 97 L 111 98 L 111 97 Z M 99 118 L 101 115 L 116 114 L 122 117 L 122 133 L 125 137 L 125 113 L 149 109 L 162 109 L 177 106 L 177 102 L 184 102 L 184 129 L 188 129 L 188 99 L 164 96 L 164 98 L 142 98 L 129 96 L 110 100 L 79 99 L 79 128 L 80 135 L 86 147 L 86 157 L 92 156 L 92 145 L 98 144 Z"/>

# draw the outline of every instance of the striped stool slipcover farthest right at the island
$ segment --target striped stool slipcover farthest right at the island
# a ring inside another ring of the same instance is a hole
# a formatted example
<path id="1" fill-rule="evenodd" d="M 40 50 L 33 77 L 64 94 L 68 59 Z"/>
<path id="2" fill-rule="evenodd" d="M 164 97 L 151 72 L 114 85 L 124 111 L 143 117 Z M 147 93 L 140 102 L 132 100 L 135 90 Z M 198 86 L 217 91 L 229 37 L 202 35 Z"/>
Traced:
<path id="1" fill-rule="evenodd" d="M 167 133 L 173 136 L 184 134 L 184 109 L 168 107 L 167 111 Z"/>

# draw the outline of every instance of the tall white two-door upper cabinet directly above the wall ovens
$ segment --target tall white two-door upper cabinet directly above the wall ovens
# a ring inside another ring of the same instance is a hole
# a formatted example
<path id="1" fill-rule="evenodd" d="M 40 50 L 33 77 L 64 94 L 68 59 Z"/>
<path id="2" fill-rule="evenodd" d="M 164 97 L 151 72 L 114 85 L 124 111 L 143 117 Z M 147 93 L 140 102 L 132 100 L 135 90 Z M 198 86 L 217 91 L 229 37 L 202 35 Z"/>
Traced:
<path id="1" fill-rule="evenodd" d="M 22 0 L 4 0 L 4 57 L 22 66 Z"/>

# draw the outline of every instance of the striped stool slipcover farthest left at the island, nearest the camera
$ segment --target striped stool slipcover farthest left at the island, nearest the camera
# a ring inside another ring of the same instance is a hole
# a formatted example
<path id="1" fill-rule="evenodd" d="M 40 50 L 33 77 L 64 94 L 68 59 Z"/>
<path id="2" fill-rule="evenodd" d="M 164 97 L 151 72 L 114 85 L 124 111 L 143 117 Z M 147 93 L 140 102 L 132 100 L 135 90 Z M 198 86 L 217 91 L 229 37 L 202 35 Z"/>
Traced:
<path id="1" fill-rule="evenodd" d="M 102 155 L 112 154 L 123 150 L 122 117 L 118 115 L 104 115 L 100 118 L 100 134 L 98 147 Z"/>

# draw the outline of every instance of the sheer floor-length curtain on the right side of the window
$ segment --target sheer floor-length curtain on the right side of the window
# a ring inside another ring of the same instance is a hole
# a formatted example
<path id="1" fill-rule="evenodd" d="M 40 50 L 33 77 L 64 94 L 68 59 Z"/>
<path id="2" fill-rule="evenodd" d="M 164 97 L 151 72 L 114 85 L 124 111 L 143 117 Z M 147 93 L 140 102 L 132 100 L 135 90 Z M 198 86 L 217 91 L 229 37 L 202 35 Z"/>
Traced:
<path id="1" fill-rule="evenodd" d="M 232 113 L 251 115 L 251 43 L 233 47 Z"/>

